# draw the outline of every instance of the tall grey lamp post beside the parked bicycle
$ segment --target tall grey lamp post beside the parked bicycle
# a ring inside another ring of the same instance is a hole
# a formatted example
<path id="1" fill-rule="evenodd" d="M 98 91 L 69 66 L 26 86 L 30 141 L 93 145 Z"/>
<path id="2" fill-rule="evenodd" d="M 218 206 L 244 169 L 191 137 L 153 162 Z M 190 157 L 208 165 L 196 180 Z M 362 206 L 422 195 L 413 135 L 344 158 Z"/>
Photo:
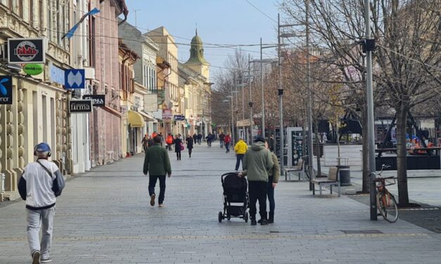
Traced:
<path id="1" fill-rule="evenodd" d="M 364 45 L 366 47 L 366 101 L 367 101 L 367 115 L 368 115 L 368 155 L 369 155 L 369 178 L 371 180 L 371 220 L 377 220 L 377 205 L 376 205 L 376 186 L 373 181 L 375 175 L 375 137 L 373 124 L 373 90 L 372 90 L 372 51 L 375 49 L 375 43 L 371 40 L 371 15 L 369 10 L 369 0 L 364 0 L 364 23 L 366 25 L 366 39 Z M 368 45 L 369 44 L 373 44 Z"/>

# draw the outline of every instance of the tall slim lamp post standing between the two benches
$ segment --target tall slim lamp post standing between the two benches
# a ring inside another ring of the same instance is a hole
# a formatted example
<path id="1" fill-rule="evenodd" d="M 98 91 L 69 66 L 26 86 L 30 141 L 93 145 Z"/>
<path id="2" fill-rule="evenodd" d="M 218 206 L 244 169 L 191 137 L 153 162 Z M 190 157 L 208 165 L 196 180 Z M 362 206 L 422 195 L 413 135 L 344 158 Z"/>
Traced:
<path id="1" fill-rule="evenodd" d="M 313 180 L 314 167 L 313 162 L 313 150 L 312 150 L 312 92 L 311 92 L 311 64 L 309 62 L 309 0 L 305 0 L 305 10 L 306 10 L 306 67 L 307 67 L 307 95 L 308 95 L 308 173 L 309 178 Z M 316 135 L 317 136 L 317 135 Z M 317 159 L 319 159 L 319 154 L 317 153 Z M 312 189 L 314 185 L 309 183 L 309 189 Z"/>

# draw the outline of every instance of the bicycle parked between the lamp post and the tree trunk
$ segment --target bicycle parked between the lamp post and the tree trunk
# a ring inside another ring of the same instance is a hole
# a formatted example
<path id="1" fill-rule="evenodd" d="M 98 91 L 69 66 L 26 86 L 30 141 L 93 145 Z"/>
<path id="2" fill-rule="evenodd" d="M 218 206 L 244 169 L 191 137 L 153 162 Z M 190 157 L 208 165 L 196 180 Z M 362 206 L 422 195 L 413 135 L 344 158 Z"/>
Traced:
<path id="1" fill-rule="evenodd" d="M 394 185 L 396 183 L 395 178 L 393 176 L 386 178 L 383 178 L 383 176 L 381 176 L 381 173 L 383 173 L 383 169 L 386 169 L 388 167 L 389 166 L 383 164 L 381 166 L 381 171 L 379 173 L 376 173 L 376 179 L 373 181 L 376 182 L 376 201 L 378 211 L 380 211 L 381 216 L 383 216 L 386 221 L 388 221 L 389 223 L 395 223 L 398 219 L 397 201 L 395 200 L 395 197 L 388 191 L 388 189 L 386 189 L 386 186 Z M 390 179 L 393 179 L 393 183 L 386 182 L 386 180 Z"/>

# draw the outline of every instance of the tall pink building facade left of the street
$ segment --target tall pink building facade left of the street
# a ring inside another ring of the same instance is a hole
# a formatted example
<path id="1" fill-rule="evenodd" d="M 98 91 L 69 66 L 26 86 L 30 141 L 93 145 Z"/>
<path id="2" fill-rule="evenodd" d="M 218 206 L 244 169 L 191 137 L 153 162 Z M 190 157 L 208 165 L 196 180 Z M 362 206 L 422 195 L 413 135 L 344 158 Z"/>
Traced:
<path id="1" fill-rule="evenodd" d="M 95 68 L 93 93 L 106 95 L 106 106 L 96 107 L 90 119 L 91 165 L 122 157 L 120 69 L 118 65 L 118 15 L 127 16 L 124 0 L 91 0 L 100 13 L 89 20 L 89 53 Z"/>

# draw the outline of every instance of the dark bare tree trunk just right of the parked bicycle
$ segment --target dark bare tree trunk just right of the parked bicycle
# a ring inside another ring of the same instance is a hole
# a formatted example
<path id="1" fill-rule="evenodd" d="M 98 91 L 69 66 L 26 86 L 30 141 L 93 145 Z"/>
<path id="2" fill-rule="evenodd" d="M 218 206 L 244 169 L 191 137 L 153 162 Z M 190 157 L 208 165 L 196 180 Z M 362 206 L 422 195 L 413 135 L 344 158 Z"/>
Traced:
<path id="1" fill-rule="evenodd" d="M 407 151 L 406 151 L 406 124 L 407 107 L 401 106 L 397 110 L 397 177 L 398 177 L 398 204 L 409 204 L 407 190 Z"/>

